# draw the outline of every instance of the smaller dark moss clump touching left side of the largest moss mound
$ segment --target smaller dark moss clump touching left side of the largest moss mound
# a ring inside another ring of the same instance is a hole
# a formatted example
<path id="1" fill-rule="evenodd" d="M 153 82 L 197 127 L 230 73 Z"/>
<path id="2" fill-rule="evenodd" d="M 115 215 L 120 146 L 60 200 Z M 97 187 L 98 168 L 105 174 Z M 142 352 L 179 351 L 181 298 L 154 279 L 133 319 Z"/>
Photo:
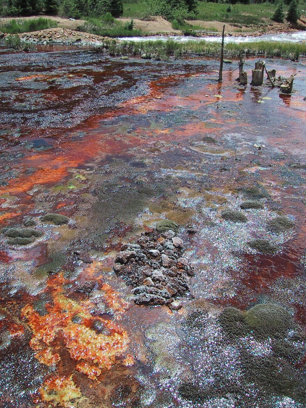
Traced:
<path id="1" fill-rule="evenodd" d="M 236 308 L 227 307 L 220 313 L 218 321 L 228 337 L 240 337 L 246 332 L 243 313 Z"/>

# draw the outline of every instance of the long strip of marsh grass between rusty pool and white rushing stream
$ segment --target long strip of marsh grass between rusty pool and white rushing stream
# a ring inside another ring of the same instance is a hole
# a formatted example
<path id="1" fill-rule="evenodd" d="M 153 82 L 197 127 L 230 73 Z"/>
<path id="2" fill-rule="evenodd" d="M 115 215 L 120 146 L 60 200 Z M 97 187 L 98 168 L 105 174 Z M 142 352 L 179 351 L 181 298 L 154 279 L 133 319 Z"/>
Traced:
<path id="1" fill-rule="evenodd" d="M 163 41 L 124 41 L 116 43 L 114 40 L 104 42 L 104 47 L 110 55 L 135 55 L 145 59 L 169 60 L 170 57 L 180 58 L 182 55 L 211 55 L 220 53 L 220 44 L 211 42 L 188 41 L 184 43 L 172 40 Z M 224 47 L 226 57 L 237 57 L 240 54 L 261 55 L 267 58 L 286 58 L 298 60 L 306 55 L 306 45 L 290 42 L 252 42 L 248 44 L 226 44 Z"/>

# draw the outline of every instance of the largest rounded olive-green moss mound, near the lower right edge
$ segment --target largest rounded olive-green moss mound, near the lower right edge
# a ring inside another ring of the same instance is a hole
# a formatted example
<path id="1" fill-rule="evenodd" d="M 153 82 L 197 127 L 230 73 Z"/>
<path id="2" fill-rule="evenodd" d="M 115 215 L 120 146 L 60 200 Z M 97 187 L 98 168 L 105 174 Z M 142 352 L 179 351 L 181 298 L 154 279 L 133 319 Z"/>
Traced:
<path id="1" fill-rule="evenodd" d="M 266 335 L 284 334 L 292 325 L 290 313 L 273 303 L 253 306 L 246 311 L 244 320 L 248 326 Z"/>

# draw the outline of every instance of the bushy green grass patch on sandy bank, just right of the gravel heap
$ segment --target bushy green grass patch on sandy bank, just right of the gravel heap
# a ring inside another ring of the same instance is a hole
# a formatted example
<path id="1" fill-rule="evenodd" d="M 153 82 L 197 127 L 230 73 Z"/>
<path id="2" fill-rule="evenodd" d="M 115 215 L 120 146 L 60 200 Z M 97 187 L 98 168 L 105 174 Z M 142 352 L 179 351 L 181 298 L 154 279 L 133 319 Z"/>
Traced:
<path id="1" fill-rule="evenodd" d="M 102 35 L 102 37 L 133 37 L 142 35 L 141 30 L 128 29 L 129 24 L 122 24 L 110 16 L 86 18 L 86 22 L 78 27 L 79 31 Z"/>

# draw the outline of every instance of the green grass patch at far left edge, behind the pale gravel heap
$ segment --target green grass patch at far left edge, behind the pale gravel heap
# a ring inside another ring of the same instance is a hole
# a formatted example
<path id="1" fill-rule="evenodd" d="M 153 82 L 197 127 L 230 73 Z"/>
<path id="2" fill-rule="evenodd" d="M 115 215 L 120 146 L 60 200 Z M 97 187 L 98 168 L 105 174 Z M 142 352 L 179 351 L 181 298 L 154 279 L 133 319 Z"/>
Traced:
<path id="1" fill-rule="evenodd" d="M 56 21 L 51 18 L 31 18 L 22 20 L 10 20 L 8 23 L 0 26 L 0 31 L 9 34 L 29 33 L 31 31 L 43 30 L 46 28 L 58 27 Z"/>

